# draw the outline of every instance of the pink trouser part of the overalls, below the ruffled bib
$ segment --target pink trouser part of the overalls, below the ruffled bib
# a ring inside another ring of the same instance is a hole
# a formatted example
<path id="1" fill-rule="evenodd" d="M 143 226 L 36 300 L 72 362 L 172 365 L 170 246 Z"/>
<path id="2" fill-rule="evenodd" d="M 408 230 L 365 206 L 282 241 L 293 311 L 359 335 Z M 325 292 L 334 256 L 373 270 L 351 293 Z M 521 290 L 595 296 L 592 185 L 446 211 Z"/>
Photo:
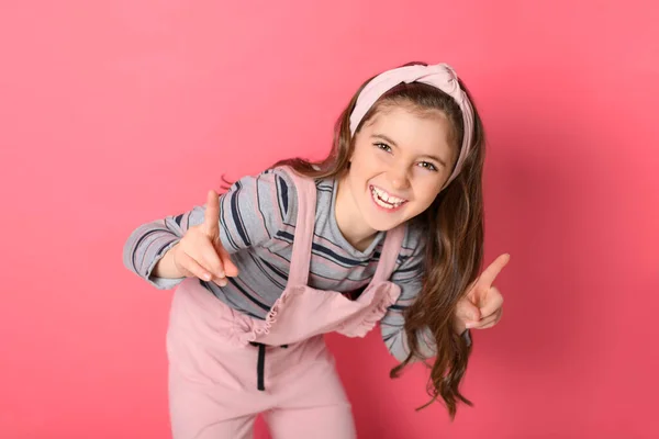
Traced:
<path id="1" fill-rule="evenodd" d="M 273 439 L 355 438 L 323 337 L 266 348 L 266 390 L 259 391 L 258 348 L 227 337 L 236 315 L 193 279 L 176 291 L 167 333 L 172 438 L 252 438 L 258 414 Z"/>

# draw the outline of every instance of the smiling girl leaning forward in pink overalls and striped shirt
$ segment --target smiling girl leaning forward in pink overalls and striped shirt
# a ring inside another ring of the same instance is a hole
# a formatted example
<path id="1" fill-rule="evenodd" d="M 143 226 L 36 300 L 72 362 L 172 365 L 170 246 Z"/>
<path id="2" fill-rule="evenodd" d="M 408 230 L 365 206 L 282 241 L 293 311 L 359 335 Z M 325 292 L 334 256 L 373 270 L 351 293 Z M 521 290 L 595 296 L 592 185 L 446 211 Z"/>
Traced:
<path id="1" fill-rule="evenodd" d="M 247 438 L 264 414 L 275 438 L 354 438 L 323 334 L 380 323 L 402 363 L 435 358 L 431 396 L 451 418 L 471 351 L 467 328 L 502 313 L 480 277 L 483 130 L 447 65 L 368 80 L 322 162 L 284 160 L 204 207 L 138 227 L 125 266 L 178 285 L 167 351 L 174 437 Z M 230 258 L 231 255 L 231 258 Z"/>

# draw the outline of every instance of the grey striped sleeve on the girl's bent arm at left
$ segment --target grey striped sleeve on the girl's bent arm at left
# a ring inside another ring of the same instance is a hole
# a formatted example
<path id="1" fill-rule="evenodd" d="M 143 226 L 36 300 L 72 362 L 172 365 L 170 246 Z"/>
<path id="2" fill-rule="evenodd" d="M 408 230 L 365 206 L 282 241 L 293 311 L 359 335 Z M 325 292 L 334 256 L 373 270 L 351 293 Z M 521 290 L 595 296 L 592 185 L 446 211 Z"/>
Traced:
<path id="1" fill-rule="evenodd" d="M 266 170 L 244 177 L 220 195 L 220 240 L 228 254 L 264 245 L 297 212 L 295 188 L 288 175 Z M 152 275 L 154 267 L 186 234 L 203 223 L 205 205 L 179 215 L 167 216 L 137 227 L 123 249 L 124 266 L 159 290 L 179 284 L 183 279 Z"/>

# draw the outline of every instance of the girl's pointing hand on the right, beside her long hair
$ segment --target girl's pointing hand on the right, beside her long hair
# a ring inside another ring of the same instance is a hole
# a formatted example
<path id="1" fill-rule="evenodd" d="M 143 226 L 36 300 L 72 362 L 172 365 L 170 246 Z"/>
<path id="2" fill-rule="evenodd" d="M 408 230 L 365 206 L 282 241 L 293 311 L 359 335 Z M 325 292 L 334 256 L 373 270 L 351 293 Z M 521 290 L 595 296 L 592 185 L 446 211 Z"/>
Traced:
<path id="1" fill-rule="evenodd" d="M 470 328 L 491 328 L 499 323 L 503 315 L 503 295 L 492 283 L 510 259 L 510 255 L 501 255 L 469 285 L 467 294 L 456 306 L 455 328 L 458 334 Z"/>

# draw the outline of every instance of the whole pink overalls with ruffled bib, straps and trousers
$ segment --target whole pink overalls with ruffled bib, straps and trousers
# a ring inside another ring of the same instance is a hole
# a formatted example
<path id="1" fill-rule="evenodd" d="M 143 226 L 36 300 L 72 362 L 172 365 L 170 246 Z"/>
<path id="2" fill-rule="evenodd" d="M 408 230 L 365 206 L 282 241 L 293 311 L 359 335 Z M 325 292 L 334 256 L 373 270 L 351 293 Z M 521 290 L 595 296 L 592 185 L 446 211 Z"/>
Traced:
<path id="1" fill-rule="evenodd" d="M 356 437 L 323 334 L 364 337 L 396 301 L 400 288 L 388 279 L 404 226 L 387 234 L 376 274 L 357 300 L 314 290 L 306 281 L 316 188 L 288 171 L 299 199 L 295 237 L 287 288 L 266 319 L 232 309 L 197 279 L 174 295 L 167 353 L 175 439 L 250 438 L 261 413 L 275 439 Z"/>

